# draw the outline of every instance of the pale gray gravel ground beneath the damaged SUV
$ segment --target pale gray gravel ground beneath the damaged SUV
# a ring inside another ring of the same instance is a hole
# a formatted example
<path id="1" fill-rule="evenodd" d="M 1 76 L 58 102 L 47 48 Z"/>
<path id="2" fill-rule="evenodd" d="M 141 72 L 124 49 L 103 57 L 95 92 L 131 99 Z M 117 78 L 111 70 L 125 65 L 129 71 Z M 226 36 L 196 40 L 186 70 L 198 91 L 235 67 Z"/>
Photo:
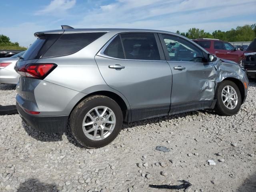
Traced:
<path id="1" fill-rule="evenodd" d="M 15 104 L 15 95 L 0 85 L 0 104 Z M 125 124 L 114 142 L 93 150 L 69 133 L 44 134 L 19 115 L 0 116 L 0 191 L 170 192 L 183 190 L 148 185 L 187 180 L 186 192 L 255 192 L 255 96 L 250 83 L 235 116 L 200 110 Z"/>

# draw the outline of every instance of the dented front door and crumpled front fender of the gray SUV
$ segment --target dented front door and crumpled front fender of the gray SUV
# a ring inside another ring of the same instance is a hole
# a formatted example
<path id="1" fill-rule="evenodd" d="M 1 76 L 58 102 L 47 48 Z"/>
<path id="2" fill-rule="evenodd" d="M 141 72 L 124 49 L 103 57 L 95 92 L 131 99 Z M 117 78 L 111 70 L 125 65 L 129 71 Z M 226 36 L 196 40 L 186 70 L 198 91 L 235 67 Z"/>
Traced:
<path id="1" fill-rule="evenodd" d="M 226 78 L 235 78 L 243 82 L 246 74 L 235 62 L 219 58 L 212 63 L 173 61 L 168 63 L 172 69 L 173 82 L 169 115 L 213 108 L 218 83 Z M 176 70 L 177 67 L 184 69 Z"/>

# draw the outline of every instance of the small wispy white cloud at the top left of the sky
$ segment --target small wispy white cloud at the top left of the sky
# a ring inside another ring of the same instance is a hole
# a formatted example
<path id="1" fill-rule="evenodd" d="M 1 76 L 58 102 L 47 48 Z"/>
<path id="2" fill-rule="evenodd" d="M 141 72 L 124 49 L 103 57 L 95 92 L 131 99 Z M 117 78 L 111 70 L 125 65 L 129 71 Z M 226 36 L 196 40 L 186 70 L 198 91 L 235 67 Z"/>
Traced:
<path id="1" fill-rule="evenodd" d="M 42 15 L 42 14 L 54 14 L 58 15 L 66 10 L 71 9 L 76 4 L 76 0 L 52 0 L 48 6 L 46 6 L 42 10 L 38 10 L 35 14 Z"/>

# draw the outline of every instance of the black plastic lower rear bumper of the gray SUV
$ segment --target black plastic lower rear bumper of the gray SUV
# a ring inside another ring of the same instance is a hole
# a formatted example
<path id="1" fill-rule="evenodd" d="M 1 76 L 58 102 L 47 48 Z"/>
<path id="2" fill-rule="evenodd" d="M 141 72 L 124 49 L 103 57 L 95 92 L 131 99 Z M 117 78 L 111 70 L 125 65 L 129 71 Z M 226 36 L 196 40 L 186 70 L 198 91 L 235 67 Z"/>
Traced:
<path id="1" fill-rule="evenodd" d="M 40 132 L 66 132 L 68 116 L 36 116 L 25 112 L 16 102 L 20 117 L 26 124 Z"/>

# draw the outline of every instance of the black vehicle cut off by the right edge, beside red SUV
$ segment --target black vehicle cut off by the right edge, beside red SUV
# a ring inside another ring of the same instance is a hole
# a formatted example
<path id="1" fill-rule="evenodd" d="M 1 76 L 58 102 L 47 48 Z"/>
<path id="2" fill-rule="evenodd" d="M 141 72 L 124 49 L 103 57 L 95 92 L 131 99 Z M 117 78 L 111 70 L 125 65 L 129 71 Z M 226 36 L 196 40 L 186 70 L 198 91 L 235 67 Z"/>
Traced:
<path id="1" fill-rule="evenodd" d="M 246 69 L 248 77 L 256 78 L 256 39 L 250 43 L 244 52 L 241 63 Z"/>

